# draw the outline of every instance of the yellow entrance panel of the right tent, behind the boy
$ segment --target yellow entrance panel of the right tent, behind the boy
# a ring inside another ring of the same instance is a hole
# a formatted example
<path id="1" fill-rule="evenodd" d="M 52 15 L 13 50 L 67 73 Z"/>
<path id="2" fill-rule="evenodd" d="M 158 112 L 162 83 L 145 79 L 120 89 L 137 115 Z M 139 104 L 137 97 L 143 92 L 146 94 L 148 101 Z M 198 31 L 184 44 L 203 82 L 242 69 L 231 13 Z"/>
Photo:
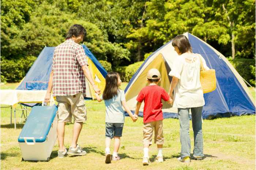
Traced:
<path id="1" fill-rule="evenodd" d="M 167 69 L 165 65 L 165 60 L 163 58 L 163 55 L 161 53 L 158 54 L 157 57 L 154 58 L 154 60 L 146 67 L 142 68 L 144 71 L 141 73 L 139 78 L 134 82 L 132 87 L 126 92 L 125 98 L 127 101 L 127 104 L 131 110 L 135 110 L 136 106 L 136 98 L 140 92 L 140 90 L 147 86 L 147 72 L 151 68 L 156 68 L 161 73 L 161 82 L 158 84 L 159 86 L 163 87 L 166 91 L 169 91 L 170 87 L 170 80 L 167 74 Z M 171 105 L 169 105 L 166 102 L 163 102 L 163 109 L 170 108 Z M 140 107 L 140 110 L 143 111 L 144 103 L 142 103 L 142 106 Z"/>

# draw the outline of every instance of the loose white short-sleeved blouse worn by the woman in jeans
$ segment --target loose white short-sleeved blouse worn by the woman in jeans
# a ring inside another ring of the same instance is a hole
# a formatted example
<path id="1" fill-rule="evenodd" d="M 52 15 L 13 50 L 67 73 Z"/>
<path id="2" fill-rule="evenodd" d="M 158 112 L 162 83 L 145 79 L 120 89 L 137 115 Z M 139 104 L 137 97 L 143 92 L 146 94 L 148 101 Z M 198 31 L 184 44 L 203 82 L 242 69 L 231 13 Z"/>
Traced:
<path id="1" fill-rule="evenodd" d="M 173 107 L 190 108 L 203 106 L 204 96 L 200 83 L 200 58 L 204 69 L 209 68 L 200 54 L 183 53 L 174 60 L 170 76 L 178 78 L 174 89 Z"/>

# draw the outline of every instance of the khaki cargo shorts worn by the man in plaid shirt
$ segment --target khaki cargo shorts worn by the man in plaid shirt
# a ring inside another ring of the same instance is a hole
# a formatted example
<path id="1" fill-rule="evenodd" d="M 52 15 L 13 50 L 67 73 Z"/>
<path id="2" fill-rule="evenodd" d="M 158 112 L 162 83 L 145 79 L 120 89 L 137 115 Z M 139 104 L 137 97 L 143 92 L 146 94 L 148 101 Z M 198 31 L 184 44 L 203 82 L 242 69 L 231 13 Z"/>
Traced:
<path id="1" fill-rule="evenodd" d="M 84 122 L 87 119 L 83 93 L 72 96 L 56 96 L 58 102 L 58 122 Z"/>

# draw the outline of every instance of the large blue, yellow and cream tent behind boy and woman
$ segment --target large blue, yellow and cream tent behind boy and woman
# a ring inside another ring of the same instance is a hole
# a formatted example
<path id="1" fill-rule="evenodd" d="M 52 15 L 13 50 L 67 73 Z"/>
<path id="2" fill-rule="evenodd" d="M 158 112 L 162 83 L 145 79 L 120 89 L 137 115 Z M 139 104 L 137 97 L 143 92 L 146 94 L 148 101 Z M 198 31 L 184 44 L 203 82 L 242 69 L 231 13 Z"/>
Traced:
<path id="1" fill-rule="evenodd" d="M 226 57 L 198 37 L 189 33 L 183 35 L 188 38 L 193 53 L 201 54 L 208 67 L 216 71 L 217 89 L 204 94 L 205 106 L 202 117 L 215 118 L 255 114 L 255 99 L 249 92 L 243 78 Z M 167 92 L 169 91 L 172 77 L 168 73 L 171 71 L 176 57 L 178 55 L 174 51 L 171 40 L 152 53 L 136 71 L 125 88 L 125 98 L 133 112 L 140 90 L 147 86 L 146 75 L 149 69 L 157 68 L 160 71 L 162 80 L 159 85 Z M 139 116 L 143 116 L 143 108 L 144 102 L 140 107 Z M 163 102 L 163 117 L 177 118 L 177 108 Z"/>

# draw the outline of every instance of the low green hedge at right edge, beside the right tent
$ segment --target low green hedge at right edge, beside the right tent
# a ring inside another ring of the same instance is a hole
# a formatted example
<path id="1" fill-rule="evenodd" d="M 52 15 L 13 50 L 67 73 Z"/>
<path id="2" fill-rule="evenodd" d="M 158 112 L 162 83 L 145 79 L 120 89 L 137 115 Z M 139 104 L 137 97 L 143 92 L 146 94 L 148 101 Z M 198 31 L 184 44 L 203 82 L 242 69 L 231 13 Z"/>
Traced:
<path id="1" fill-rule="evenodd" d="M 255 86 L 255 59 L 235 58 L 232 60 L 229 57 L 228 60 L 246 82 Z"/>

